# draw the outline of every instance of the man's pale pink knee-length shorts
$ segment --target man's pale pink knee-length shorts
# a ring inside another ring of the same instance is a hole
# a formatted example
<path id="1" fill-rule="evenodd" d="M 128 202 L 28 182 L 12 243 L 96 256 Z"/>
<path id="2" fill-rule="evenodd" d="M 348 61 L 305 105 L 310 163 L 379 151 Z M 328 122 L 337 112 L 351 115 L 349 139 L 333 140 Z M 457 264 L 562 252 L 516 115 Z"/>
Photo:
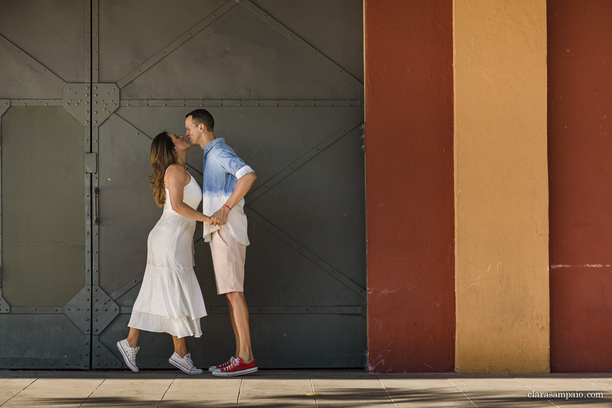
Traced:
<path id="1" fill-rule="evenodd" d="M 217 294 L 244 292 L 244 261 L 247 247 L 223 230 L 211 233 L 212 266 Z"/>

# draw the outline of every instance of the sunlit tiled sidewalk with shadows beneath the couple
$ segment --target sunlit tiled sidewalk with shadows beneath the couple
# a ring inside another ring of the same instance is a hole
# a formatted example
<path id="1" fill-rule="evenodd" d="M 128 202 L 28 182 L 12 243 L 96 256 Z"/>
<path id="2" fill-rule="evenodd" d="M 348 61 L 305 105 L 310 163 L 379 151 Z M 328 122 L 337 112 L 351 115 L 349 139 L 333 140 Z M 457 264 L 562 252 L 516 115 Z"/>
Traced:
<path id="1" fill-rule="evenodd" d="M 529 398 L 573 392 L 583 398 Z M 587 393 L 603 398 L 586 398 Z M 179 371 L 0 371 L 2 408 L 610 407 L 612 374 L 365 374 L 260 370 L 218 378 Z"/>

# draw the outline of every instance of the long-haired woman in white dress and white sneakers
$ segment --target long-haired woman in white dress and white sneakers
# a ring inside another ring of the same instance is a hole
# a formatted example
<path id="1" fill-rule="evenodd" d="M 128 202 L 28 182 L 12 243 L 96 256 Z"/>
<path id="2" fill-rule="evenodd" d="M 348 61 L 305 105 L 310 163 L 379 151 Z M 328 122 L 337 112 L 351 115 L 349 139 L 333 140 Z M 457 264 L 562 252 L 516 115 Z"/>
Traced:
<path id="1" fill-rule="evenodd" d="M 196 210 L 202 199 L 198 182 L 185 170 L 191 145 L 183 136 L 162 132 L 151 143 L 151 187 L 163 207 L 147 241 L 143 285 L 132 308 L 129 335 L 117 347 L 135 373 L 141 330 L 172 335 L 174 354 L 168 360 L 187 374 L 201 374 L 193 365 L 185 337 L 200 337 L 200 318 L 206 316 L 200 285 L 193 272 L 193 232 L 196 221 L 209 217 Z"/>

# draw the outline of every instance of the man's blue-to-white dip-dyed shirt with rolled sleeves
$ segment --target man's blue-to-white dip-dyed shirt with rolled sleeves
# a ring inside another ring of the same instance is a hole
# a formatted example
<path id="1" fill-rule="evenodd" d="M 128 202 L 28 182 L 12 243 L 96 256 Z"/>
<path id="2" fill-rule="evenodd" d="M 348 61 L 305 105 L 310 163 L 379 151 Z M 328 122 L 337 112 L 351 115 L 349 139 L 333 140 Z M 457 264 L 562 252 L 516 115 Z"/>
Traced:
<path id="1" fill-rule="evenodd" d="M 253 172 L 234 150 L 219 137 L 204 146 L 202 183 L 202 212 L 212 216 L 230 198 L 238 179 Z M 247 216 L 244 214 L 244 199 L 240 200 L 228 213 L 225 225 L 217 227 L 204 222 L 204 241 L 211 241 L 211 233 L 224 230 L 242 245 L 248 245 Z"/>

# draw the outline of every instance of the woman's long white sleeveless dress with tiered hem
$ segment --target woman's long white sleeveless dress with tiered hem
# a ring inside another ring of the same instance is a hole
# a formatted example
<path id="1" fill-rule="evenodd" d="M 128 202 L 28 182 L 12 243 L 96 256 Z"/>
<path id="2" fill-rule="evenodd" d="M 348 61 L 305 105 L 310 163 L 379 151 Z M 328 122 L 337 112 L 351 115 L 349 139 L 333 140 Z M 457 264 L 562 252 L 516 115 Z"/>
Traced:
<path id="1" fill-rule="evenodd" d="M 183 201 L 198 208 L 202 190 L 190 177 Z M 129 327 L 176 337 L 201 336 L 200 318 L 206 316 L 206 307 L 193 272 L 195 225 L 195 220 L 172 209 L 166 189 L 162 217 L 149 233 L 143 285 L 132 308 Z"/>

